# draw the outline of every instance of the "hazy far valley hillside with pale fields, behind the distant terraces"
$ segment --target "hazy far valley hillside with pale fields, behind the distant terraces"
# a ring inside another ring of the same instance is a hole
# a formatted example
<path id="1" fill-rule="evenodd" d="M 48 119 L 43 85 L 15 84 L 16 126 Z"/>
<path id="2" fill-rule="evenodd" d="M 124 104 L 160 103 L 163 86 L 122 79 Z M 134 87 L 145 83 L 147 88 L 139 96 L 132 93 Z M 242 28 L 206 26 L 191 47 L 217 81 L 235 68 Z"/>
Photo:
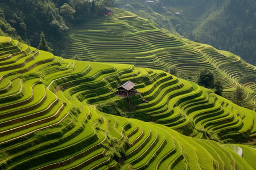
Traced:
<path id="1" fill-rule="evenodd" d="M 256 2 L 117 0 L 118 7 L 154 20 L 175 35 L 228 50 L 256 65 Z"/>

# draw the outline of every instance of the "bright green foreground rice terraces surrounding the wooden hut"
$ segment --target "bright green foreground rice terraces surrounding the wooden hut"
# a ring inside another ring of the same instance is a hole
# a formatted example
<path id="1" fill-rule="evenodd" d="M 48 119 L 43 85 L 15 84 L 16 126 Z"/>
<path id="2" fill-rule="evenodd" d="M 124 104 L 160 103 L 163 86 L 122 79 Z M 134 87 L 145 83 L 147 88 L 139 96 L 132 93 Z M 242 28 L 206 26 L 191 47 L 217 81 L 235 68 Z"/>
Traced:
<path id="1" fill-rule="evenodd" d="M 255 118 L 162 70 L 0 37 L 0 169 L 255 169 Z"/>

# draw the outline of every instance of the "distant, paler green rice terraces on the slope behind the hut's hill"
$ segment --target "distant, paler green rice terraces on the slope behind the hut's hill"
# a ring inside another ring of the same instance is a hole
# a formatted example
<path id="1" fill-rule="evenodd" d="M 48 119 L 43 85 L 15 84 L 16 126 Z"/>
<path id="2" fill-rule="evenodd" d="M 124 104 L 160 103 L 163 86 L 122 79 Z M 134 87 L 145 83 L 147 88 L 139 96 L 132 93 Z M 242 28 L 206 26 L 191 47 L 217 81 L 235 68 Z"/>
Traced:
<path id="1" fill-rule="evenodd" d="M 167 71 L 175 66 L 180 78 L 193 80 L 208 68 L 221 80 L 223 95 L 232 100 L 238 86 L 245 89 L 250 108 L 256 103 L 256 68 L 240 57 L 212 46 L 172 35 L 150 20 L 114 8 L 113 15 L 76 27 L 65 58 L 127 63 Z"/>

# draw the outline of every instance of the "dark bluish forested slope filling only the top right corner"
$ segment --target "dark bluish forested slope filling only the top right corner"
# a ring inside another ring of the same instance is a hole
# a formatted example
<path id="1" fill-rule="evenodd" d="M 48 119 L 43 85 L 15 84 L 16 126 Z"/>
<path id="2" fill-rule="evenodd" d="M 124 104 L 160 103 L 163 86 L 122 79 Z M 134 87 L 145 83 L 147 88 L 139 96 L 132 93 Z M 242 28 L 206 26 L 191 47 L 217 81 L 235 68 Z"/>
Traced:
<path id="1" fill-rule="evenodd" d="M 193 37 L 256 65 L 256 1 L 225 1 L 195 27 Z"/>

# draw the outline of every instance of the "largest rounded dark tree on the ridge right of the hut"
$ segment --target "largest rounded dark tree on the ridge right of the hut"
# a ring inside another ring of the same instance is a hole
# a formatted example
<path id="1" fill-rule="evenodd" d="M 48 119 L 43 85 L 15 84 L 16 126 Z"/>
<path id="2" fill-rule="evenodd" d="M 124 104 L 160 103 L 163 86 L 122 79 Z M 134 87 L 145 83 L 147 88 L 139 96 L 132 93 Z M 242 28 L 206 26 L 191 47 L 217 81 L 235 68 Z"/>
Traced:
<path id="1" fill-rule="evenodd" d="M 198 84 L 206 88 L 214 88 L 214 75 L 208 69 L 200 71 Z"/>

